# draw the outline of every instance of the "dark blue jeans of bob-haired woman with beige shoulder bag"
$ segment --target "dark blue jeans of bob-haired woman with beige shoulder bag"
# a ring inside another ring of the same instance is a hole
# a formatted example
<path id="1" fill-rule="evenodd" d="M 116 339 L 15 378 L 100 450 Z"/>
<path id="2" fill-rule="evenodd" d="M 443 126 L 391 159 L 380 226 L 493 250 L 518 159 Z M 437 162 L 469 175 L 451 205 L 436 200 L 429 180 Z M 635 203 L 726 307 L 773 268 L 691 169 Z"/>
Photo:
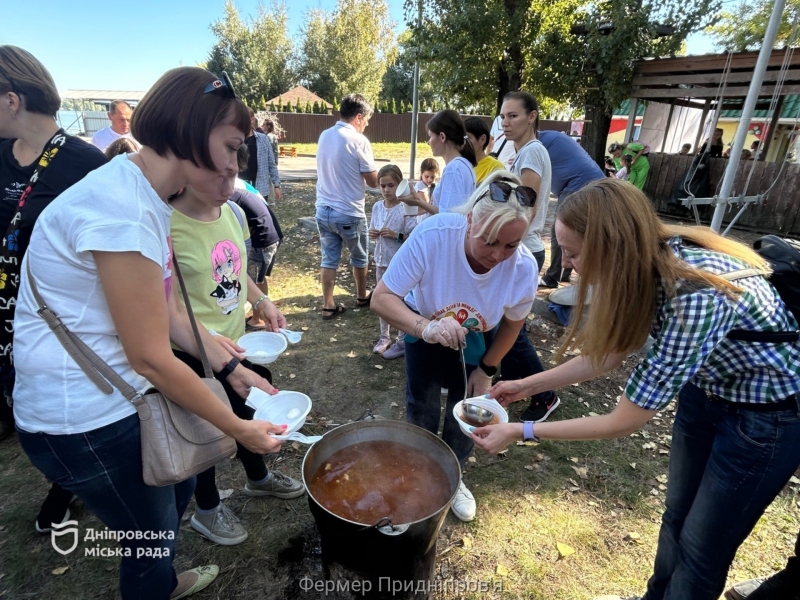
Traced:
<path id="1" fill-rule="evenodd" d="M 178 585 L 172 567 L 175 538 L 194 491 L 194 478 L 164 487 L 145 484 L 138 415 L 86 433 L 50 435 L 18 430 L 17 435 L 33 465 L 50 481 L 77 494 L 109 530 L 165 532 L 165 536 L 172 532 L 171 540 L 120 541 L 123 551 L 129 548 L 131 554 L 123 556 L 120 565 L 123 600 L 167 600 Z M 80 540 L 83 536 L 78 533 Z M 137 558 L 137 549 L 155 548 L 167 555 Z M 80 543 L 78 552 L 83 552 Z"/>

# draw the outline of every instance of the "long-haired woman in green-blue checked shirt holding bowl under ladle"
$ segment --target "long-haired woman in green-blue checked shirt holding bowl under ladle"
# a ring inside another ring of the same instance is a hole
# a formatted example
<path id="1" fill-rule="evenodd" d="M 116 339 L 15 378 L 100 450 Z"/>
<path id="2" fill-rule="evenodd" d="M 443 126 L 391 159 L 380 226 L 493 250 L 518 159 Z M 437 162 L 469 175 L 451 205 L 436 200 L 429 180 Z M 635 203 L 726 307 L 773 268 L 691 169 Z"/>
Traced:
<path id="1" fill-rule="evenodd" d="M 706 228 L 661 223 L 623 181 L 570 195 L 556 210 L 556 237 L 564 264 L 581 275 L 559 356 L 580 356 L 501 382 L 490 395 L 507 405 L 586 381 L 617 368 L 648 334 L 655 343 L 611 413 L 492 425 L 475 430 L 475 443 L 496 453 L 519 439 L 624 437 L 677 395 L 666 510 L 644 598 L 716 600 L 737 548 L 800 464 L 800 347 L 732 331 L 796 331 L 797 321 L 760 274 L 769 268 L 758 254 Z M 757 271 L 724 277 L 743 269 Z"/>

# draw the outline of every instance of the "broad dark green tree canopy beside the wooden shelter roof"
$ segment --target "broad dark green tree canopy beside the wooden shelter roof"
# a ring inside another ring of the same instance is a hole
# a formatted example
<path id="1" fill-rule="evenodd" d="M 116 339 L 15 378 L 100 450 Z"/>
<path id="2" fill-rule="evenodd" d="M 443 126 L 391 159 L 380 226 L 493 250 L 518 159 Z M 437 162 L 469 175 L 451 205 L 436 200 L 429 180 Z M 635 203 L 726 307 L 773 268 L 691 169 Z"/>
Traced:
<path id="1" fill-rule="evenodd" d="M 686 36 L 713 24 L 720 6 L 721 0 L 428 0 L 422 27 L 413 31 L 446 103 L 494 114 L 508 91 L 525 89 L 564 112 L 586 107 L 584 147 L 598 159 L 613 109 L 630 95 L 633 61 L 678 52 Z M 406 0 L 410 20 L 416 9 Z M 570 33 L 576 22 L 585 36 Z M 612 25 L 607 35 L 601 24 Z M 675 34 L 656 37 L 656 24 L 672 25 Z"/>

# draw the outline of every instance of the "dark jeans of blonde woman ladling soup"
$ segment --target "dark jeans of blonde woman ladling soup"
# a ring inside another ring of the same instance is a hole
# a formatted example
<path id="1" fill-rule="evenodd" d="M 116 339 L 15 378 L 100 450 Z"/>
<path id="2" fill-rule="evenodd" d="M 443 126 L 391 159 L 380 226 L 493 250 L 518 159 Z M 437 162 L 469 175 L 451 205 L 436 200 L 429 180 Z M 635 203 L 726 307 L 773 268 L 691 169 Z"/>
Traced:
<path id="1" fill-rule="evenodd" d="M 467 377 L 474 369 L 475 365 L 467 365 Z M 464 435 L 453 416 L 453 407 L 464 399 L 461 357 L 441 344 L 406 340 L 406 421 L 438 434 L 443 387 L 447 388 L 447 402 L 442 439 L 463 468 L 475 443 Z"/>

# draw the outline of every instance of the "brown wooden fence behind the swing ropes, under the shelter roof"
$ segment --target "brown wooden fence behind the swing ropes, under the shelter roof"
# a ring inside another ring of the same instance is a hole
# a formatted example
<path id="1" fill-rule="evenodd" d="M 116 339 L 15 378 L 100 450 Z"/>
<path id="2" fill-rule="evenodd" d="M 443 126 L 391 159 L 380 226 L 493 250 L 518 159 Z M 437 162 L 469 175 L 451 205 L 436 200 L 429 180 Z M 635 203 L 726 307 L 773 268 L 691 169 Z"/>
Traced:
<path id="1" fill-rule="evenodd" d="M 675 154 L 650 154 L 650 175 L 644 186 L 644 192 L 653 200 L 656 210 L 665 215 L 688 219 L 692 222 L 691 209 L 682 204 L 670 204 L 669 199 L 678 182 L 681 181 L 692 163 L 691 156 Z M 710 195 L 719 190 L 722 177 L 728 165 L 724 158 L 712 158 L 710 163 Z M 740 161 L 733 184 L 733 193 L 740 194 L 745 183 L 752 177 L 747 188 L 747 195 L 754 196 L 765 192 L 773 183 L 774 187 L 766 199 L 760 204 L 751 204 L 736 222 L 737 226 L 747 227 L 759 232 L 778 233 L 781 235 L 800 235 L 800 165 L 787 164 L 776 182 L 780 171 L 780 163 Z M 732 205 L 725 213 L 724 223 L 739 211 L 740 206 Z M 714 212 L 713 206 L 699 206 L 698 211 L 703 223 L 708 225 Z"/>

